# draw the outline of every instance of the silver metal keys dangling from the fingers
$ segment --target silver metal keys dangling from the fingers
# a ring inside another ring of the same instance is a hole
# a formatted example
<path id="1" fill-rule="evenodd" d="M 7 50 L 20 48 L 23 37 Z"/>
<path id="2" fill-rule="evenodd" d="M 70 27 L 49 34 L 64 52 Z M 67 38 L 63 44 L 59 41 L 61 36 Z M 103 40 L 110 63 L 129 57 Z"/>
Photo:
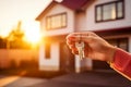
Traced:
<path id="1" fill-rule="evenodd" d="M 75 47 L 79 51 L 80 59 L 82 60 L 84 58 L 84 41 L 75 42 Z"/>

